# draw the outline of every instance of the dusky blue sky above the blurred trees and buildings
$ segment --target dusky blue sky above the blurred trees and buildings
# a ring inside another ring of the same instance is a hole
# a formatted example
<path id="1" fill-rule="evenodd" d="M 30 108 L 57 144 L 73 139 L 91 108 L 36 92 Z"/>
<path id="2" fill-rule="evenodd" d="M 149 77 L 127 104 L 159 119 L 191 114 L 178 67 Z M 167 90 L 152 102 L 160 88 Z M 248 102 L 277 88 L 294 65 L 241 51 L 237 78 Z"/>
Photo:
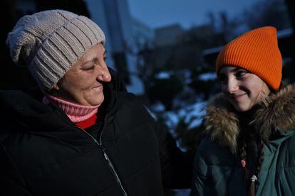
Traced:
<path id="1" fill-rule="evenodd" d="M 151 28 L 180 23 L 184 28 L 208 22 L 207 13 L 227 11 L 237 16 L 262 0 L 128 0 L 131 15 Z"/>

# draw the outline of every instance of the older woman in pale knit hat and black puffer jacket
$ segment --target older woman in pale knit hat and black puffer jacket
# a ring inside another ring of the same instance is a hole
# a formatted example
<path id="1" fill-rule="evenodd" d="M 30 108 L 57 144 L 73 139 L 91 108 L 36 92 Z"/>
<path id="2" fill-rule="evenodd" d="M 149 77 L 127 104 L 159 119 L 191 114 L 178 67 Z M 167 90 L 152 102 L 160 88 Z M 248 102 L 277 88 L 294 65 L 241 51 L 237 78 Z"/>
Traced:
<path id="1" fill-rule="evenodd" d="M 11 58 L 39 90 L 1 91 L 1 195 L 163 195 L 190 186 L 176 148 L 105 64 L 103 31 L 63 10 L 24 16 Z"/>

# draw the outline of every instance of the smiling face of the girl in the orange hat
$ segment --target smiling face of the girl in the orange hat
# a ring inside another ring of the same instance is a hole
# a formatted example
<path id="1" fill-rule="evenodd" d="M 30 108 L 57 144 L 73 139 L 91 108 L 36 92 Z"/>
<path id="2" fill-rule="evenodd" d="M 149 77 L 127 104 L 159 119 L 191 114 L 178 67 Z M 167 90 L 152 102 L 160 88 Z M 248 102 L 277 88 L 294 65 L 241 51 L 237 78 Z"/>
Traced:
<path id="1" fill-rule="evenodd" d="M 270 92 L 260 77 L 240 67 L 222 67 L 218 78 L 222 92 L 237 111 L 252 109 Z"/>

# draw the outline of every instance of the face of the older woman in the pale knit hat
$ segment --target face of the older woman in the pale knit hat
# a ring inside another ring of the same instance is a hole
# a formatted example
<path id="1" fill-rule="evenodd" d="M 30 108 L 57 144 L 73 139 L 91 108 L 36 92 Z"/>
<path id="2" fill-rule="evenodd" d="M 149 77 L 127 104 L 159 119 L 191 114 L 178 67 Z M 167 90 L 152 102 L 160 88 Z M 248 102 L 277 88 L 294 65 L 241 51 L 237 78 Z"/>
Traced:
<path id="1" fill-rule="evenodd" d="M 103 102 L 103 82 L 111 76 L 105 64 L 105 48 L 99 43 L 88 50 L 53 86 L 57 96 L 68 102 L 95 106 Z"/>

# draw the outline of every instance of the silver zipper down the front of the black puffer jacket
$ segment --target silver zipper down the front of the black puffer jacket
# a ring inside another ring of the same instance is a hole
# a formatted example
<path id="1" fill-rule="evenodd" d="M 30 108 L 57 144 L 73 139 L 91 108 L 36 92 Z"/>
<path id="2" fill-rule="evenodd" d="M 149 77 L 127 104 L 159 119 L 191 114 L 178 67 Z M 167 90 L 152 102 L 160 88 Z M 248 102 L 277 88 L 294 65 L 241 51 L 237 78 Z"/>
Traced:
<path id="1" fill-rule="evenodd" d="M 110 170 L 112 171 L 114 177 L 115 177 L 115 180 L 117 181 L 118 185 L 120 186 L 120 189 L 123 193 L 124 196 L 128 196 L 125 188 L 123 187 L 123 184 L 118 176 L 118 173 L 116 172 L 115 170 L 115 167 L 113 165 L 113 163 L 110 161 L 110 158 L 108 157 L 108 154 L 106 153 L 105 151 L 105 147 L 103 147 L 103 141 L 101 141 L 101 136 L 103 135 L 103 130 L 105 129 L 105 122 L 106 122 L 106 118 L 107 116 L 105 116 L 105 121 L 104 121 L 104 124 L 103 124 L 103 129 L 101 131 L 101 134 L 100 134 L 100 137 L 99 137 L 99 141 L 97 141 L 95 138 L 93 138 L 93 136 L 91 136 L 90 134 L 87 133 L 87 131 L 85 131 L 84 129 L 81 129 L 80 127 L 76 126 L 78 129 L 81 129 L 84 133 L 86 133 L 88 136 L 90 136 L 90 138 L 93 139 L 93 141 L 96 143 L 96 145 L 98 145 L 98 147 L 100 148 L 100 150 L 103 152 L 103 156 L 105 157 L 105 160 L 107 161 L 108 163 L 108 166 L 110 167 Z"/>

